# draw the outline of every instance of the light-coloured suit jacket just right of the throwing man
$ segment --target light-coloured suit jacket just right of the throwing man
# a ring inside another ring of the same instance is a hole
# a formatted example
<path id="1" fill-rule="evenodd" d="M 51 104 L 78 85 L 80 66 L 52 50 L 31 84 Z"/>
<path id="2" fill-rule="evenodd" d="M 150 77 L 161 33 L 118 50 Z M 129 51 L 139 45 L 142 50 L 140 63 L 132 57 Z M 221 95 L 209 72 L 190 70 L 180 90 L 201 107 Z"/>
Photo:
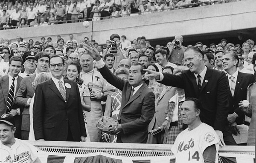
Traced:
<path id="1" fill-rule="evenodd" d="M 162 126 L 168 113 L 168 102 L 172 96 L 175 95 L 175 92 L 175 87 L 166 88 L 166 86 L 163 86 L 163 91 L 155 100 L 155 114 L 148 125 L 148 132 L 150 132 L 152 129 Z"/>

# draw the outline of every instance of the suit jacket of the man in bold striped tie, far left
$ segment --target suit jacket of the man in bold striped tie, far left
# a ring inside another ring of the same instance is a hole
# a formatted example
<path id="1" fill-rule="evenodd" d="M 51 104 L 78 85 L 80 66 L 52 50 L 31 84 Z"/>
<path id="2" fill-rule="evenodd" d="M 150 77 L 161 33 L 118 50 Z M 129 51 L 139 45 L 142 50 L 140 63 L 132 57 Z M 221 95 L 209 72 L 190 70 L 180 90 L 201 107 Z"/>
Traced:
<path id="1" fill-rule="evenodd" d="M 17 78 L 17 85 L 16 85 L 16 90 L 15 94 L 17 94 L 17 90 L 20 86 L 20 82 L 22 80 L 22 77 L 18 76 Z M 0 116 L 2 116 L 4 113 L 6 113 L 6 103 L 7 103 L 7 98 L 9 94 L 9 77 L 8 74 L 0 77 Z M 19 106 L 13 105 L 12 109 L 17 109 Z M 20 107 L 20 112 L 23 112 L 23 107 Z"/>

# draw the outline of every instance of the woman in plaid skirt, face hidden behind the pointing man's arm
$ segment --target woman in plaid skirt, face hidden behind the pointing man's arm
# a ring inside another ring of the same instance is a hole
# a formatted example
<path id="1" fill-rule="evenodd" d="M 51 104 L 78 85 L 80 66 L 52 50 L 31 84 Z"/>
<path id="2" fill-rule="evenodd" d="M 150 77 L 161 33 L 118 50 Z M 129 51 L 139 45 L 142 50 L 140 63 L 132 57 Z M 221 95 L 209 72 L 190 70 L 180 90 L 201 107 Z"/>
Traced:
<path id="1" fill-rule="evenodd" d="M 185 66 L 178 66 L 173 70 L 173 74 L 179 75 L 182 71 L 187 69 L 188 68 Z M 186 125 L 183 124 L 180 114 L 180 107 L 186 99 L 185 91 L 184 89 L 177 87 L 174 88 L 177 91 L 177 94 L 170 98 L 167 106 L 167 115 L 165 121 L 162 124 L 163 129 L 165 129 L 163 144 L 174 144 L 178 134 L 180 134 L 180 132 L 186 128 Z"/>

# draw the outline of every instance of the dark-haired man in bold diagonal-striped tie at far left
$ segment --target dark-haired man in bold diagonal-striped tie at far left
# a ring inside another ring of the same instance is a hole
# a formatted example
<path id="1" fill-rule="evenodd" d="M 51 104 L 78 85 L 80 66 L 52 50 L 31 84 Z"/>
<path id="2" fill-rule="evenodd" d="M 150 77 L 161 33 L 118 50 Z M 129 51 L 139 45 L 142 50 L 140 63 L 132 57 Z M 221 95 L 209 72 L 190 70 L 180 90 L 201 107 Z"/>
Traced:
<path id="1" fill-rule="evenodd" d="M 15 106 L 13 98 L 20 86 L 22 77 L 19 76 L 23 60 L 20 57 L 11 57 L 9 61 L 9 73 L 0 77 L 0 117 L 3 114 L 9 114 L 15 119 L 16 132 L 15 137 L 21 138 L 21 115 L 22 107 Z"/>

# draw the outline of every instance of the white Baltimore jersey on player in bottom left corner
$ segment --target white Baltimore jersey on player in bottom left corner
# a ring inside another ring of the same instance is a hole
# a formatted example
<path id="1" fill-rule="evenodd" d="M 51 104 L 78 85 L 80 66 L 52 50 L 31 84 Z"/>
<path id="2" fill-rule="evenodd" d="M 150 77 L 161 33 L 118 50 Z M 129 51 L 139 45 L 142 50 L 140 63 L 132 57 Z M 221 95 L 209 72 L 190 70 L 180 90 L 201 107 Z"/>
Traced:
<path id="1" fill-rule="evenodd" d="M 0 143 L 0 162 L 33 163 L 37 157 L 38 149 L 24 140 L 15 138 L 11 147 Z"/>

